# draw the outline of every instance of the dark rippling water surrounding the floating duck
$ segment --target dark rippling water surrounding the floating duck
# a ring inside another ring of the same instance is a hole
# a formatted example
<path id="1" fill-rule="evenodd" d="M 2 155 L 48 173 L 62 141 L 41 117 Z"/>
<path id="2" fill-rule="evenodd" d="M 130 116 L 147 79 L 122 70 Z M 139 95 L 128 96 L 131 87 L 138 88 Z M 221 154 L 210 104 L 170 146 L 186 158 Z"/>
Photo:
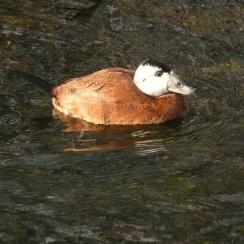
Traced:
<path id="1" fill-rule="evenodd" d="M 0 0 L 1 243 L 243 243 L 241 1 Z M 182 120 L 94 126 L 53 84 L 145 57 L 196 94 Z"/>

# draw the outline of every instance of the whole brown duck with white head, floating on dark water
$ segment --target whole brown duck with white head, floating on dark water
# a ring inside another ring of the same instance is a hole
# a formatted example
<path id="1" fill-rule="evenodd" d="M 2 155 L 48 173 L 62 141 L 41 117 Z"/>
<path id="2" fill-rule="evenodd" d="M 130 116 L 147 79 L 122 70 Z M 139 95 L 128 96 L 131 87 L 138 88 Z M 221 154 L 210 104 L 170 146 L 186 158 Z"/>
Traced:
<path id="1" fill-rule="evenodd" d="M 147 59 L 134 70 L 110 67 L 52 89 L 62 114 L 100 125 L 159 124 L 182 116 L 187 86 L 166 64 Z"/>

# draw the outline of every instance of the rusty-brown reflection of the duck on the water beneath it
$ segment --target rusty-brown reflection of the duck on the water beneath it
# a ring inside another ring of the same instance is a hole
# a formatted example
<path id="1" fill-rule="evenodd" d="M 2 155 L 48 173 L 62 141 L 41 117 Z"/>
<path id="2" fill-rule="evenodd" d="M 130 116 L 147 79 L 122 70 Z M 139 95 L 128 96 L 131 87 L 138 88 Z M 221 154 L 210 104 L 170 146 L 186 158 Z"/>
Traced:
<path id="1" fill-rule="evenodd" d="M 64 131 L 73 133 L 70 147 L 65 152 L 97 152 L 133 149 L 138 155 L 167 152 L 163 145 L 172 128 L 181 120 L 164 125 L 108 126 L 95 125 L 55 112 L 65 125 Z M 79 133 L 76 133 L 79 132 Z"/>

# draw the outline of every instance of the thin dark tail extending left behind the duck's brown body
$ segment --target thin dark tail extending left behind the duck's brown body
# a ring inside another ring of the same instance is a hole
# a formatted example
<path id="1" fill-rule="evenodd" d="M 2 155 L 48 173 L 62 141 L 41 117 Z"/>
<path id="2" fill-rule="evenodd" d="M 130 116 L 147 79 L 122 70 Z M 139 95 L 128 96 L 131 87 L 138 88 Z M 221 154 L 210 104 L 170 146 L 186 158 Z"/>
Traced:
<path id="1" fill-rule="evenodd" d="M 52 90 L 54 88 L 54 85 L 52 85 L 48 81 L 46 81 L 46 80 L 44 80 L 44 79 L 42 79 L 40 77 L 31 75 L 31 74 L 29 74 L 27 72 L 24 72 L 24 71 L 11 70 L 8 73 L 8 77 L 9 78 L 21 78 L 21 79 L 24 79 L 24 80 L 36 85 L 42 91 L 44 91 L 44 92 L 46 92 L 46 93 L 48 93 L 50 95 L 51 95 Z"/>

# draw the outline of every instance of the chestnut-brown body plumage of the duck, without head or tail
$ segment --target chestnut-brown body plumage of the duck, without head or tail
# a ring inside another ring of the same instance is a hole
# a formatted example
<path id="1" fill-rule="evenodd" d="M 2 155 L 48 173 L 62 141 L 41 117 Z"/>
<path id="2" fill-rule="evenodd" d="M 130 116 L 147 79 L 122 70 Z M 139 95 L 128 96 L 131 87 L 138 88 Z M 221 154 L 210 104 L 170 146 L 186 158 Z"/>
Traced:
<path id="1" fill-rule="evenodd" d="M 74 78 L 53 89 L 54 107 L 95 124 L 157 124 L 181 116 L 180 94 L 150 97 L 133 82 L 134 71 L 108 68 Z"/>

